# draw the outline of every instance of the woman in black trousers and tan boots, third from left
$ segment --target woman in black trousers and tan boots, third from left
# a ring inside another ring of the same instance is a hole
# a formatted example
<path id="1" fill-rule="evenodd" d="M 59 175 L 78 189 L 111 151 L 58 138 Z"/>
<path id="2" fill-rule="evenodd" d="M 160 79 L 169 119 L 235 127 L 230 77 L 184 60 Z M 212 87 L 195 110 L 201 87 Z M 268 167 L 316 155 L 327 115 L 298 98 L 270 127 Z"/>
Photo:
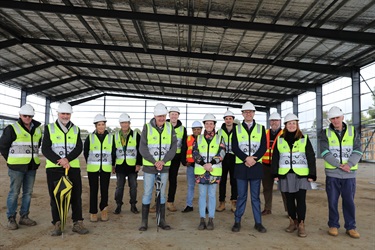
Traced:
<path id="1" fill-rule="evenodd" d="M 90 186 L 90 221 L 98 221 L 98 192 L 100 186 L 100 220 L 108 221 L 108 189 L 112 166 L 116 161 L 116 146 L 113 135 L 106 129 L 107 119 L 102 114 L 94 117 L 95 131 L 87 135 L 83 156 Z"/>

